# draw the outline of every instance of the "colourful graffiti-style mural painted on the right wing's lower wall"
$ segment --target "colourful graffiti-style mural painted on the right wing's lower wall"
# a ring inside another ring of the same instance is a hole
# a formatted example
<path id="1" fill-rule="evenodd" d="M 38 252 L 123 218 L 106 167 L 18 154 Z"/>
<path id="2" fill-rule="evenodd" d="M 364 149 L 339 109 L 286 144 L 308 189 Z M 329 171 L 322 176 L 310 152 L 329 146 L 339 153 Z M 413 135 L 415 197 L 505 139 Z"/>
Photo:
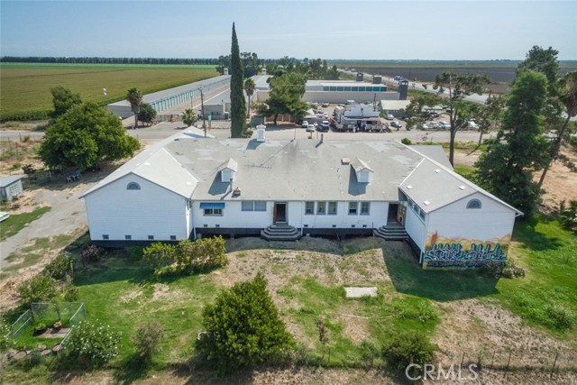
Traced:
<path id="1" fill-rule="evenodd" d="M 481 267 L 488 261 L 505 263 L 509 240 L 509 234 L 481 241 L 440 238 L 435 232 L 427 238 L 423 268 Z"/>

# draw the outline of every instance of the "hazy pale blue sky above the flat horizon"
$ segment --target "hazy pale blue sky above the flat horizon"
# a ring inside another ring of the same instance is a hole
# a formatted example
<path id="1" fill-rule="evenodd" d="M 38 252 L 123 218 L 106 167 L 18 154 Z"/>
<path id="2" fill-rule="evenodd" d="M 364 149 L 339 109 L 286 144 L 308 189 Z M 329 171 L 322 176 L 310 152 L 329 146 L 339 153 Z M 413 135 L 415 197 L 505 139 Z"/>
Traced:
<path id="1" fill-rule="evenodd" d="M 570 1 L 5 1 L 2 56 L 577 60 Z"/>

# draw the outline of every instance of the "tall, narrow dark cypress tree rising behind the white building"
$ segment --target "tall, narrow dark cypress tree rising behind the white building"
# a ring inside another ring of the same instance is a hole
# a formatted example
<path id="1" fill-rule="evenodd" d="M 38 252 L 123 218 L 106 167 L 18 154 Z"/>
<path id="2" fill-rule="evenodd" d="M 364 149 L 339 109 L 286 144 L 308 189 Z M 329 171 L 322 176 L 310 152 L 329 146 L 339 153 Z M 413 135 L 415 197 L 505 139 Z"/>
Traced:
<path id="1" fill-rule="evenodd" d="M 233 47 L 231 49 L 231 137 L 240 138 L 246 122 L 246 105 L 244 102 L 243 61 L 236 39 L 233 23 Z"/>

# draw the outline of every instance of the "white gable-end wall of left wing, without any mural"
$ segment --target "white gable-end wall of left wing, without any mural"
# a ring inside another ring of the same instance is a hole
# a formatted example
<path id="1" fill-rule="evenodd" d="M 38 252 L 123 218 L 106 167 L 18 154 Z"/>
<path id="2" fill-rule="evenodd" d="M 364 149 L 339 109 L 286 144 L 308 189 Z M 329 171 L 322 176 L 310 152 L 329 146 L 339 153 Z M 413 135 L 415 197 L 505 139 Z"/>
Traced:
<path id="1" fill-rule="evenodd" d="M 136 182 L 140 190 L 127 190 Z M 187 199 L 133 174 L 115 180 L 85 197 L 90 238 L 102 240 L 108 234 L 111 241 L 187 239 Z"/>

